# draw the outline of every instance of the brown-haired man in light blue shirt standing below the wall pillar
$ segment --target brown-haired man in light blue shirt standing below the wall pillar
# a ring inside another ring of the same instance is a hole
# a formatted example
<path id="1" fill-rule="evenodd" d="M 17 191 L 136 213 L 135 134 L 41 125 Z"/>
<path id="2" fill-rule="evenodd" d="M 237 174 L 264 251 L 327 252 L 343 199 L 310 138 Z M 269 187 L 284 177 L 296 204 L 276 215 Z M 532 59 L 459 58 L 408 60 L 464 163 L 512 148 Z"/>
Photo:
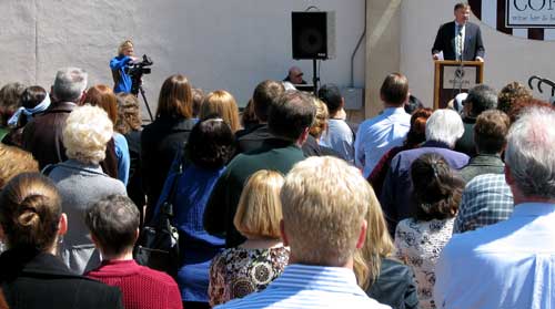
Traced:
<path id="1" fill-rule="evenodd" d="M 404 110 L 408 100 L 408 80 L 401 73 L 387 75 L 380 89 L 385 110 L 359 126 L 354 143 L 355 165 L 369 177 L 380 158 L 401 146 L 411 128 L 411 115 Z"/>

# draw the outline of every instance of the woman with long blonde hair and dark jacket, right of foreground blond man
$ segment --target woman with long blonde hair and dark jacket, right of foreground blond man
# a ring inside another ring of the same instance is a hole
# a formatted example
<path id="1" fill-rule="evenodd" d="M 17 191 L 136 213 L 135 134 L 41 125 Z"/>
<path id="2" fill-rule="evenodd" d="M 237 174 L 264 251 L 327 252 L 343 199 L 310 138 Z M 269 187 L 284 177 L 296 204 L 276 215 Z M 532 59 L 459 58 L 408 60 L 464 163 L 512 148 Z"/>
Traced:
<path id="1" fill-rule="evenodd" d="M 395 247 L 375 194 L 371 190 L 364 246 L 354 256 L 354 274 L 366 295 L 394 309 L 418 308 L 411 268 L 392 257 Z"/>

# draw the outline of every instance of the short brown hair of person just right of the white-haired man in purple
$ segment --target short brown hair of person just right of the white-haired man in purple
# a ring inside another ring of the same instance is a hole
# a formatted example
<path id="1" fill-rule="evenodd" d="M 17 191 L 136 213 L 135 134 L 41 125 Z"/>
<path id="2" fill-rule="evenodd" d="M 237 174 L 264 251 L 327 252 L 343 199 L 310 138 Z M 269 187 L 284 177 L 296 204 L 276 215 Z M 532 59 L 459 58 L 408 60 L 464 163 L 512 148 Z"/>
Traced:
<path id="1" fill-rule="evenodd" d="M 508 116 L 498 110 L 485 111 L 476 119 L 474 143 L 481 154 L 498 154 L 507 143 Z"/>

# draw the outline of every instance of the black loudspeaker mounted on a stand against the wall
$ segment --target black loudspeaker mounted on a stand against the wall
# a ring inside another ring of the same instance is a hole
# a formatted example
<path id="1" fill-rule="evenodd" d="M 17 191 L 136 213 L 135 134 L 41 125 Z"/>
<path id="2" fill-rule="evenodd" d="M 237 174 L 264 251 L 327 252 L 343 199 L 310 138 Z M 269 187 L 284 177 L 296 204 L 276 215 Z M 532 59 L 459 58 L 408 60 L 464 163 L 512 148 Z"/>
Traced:
<path id="1" fill-rule="evenodd" d="M 292 12 L 293 59 L 335 58 L 335 12 Z"/>

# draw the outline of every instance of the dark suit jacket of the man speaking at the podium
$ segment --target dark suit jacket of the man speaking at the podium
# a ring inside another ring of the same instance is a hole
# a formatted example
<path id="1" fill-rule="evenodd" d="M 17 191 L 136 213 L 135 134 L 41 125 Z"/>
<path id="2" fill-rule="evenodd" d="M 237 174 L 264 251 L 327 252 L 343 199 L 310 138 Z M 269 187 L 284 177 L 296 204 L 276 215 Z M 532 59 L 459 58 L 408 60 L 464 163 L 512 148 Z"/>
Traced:
<path id="1" fill-rule="evenodd" d="M 485 49 L 482 42 L 480 27 L 472 22 L 466 22 L 464 35 L 463 60 L 472 61 L 476 56 L 484 58 Z M 432 54 L 443 51 L 445 60 L 456 60 L 455 54 L 455 22 L 444 23 L 435 37 Z"/>

